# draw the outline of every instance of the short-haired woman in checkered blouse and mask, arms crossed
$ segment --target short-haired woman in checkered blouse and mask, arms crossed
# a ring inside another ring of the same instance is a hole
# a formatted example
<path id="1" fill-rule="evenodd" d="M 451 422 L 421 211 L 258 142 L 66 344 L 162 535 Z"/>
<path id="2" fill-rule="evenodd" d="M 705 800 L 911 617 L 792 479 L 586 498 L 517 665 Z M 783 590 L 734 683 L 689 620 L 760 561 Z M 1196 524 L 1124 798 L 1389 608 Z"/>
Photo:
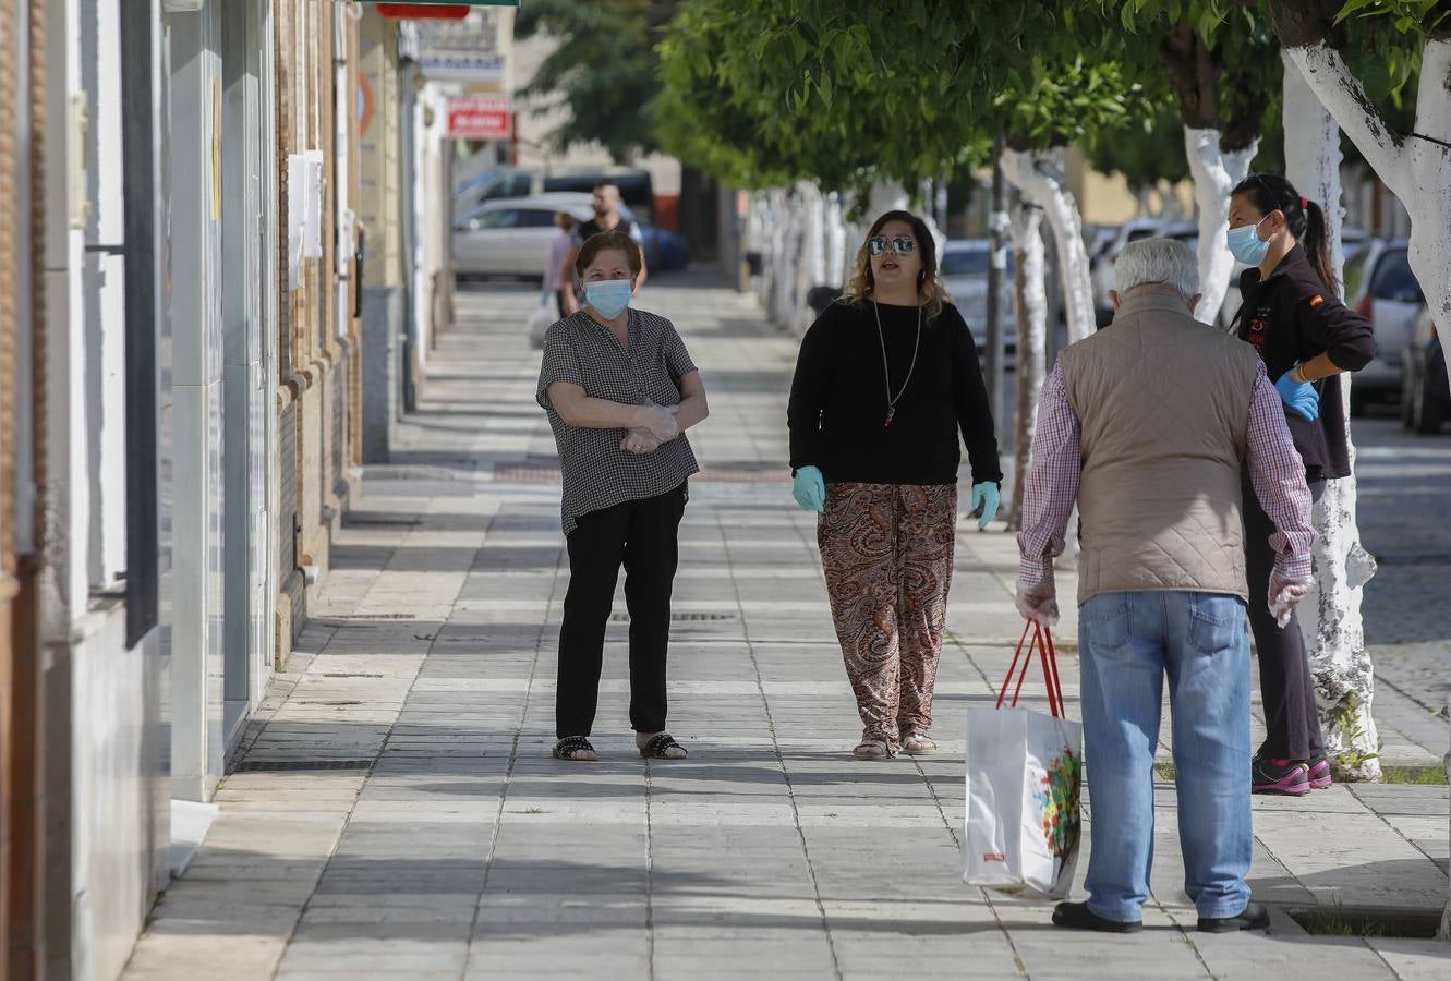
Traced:
<path id="1" fill-rule="evenodd" d="M 621 565 L 636 746 L 644 758 L 685 758 L 665 731 L 665 662 L 678 530 L 686 483 L 699 470 L 683 434 L 708 408 L 675 325 L 630 306 L 640 268 L 628 235 L 591 237 L 573 270 L 585 305 L 544 335 L 537 399 L 559 447 L 569 547 L 553 750 L 564 760 L 599 759 L 589 733 Z"/>

